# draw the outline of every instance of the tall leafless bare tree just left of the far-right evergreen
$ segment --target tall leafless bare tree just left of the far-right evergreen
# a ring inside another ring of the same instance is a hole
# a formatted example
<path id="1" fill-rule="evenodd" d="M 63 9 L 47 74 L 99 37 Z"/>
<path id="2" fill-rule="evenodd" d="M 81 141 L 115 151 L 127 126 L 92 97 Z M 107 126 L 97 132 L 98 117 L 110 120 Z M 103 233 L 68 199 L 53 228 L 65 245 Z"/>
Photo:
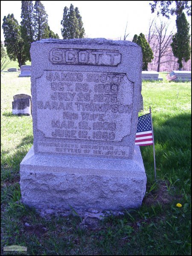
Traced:
<path id="1" fill-rule="evenodd" d="M 170 44 L 172 41 L 173 36 L 173 29 L 171 32 L 169 32 L 169 35 L 166 35 L 168 33 L 168 27 L 170 23 L 163 22 L 160 20 L 160 25 L 155 23 L 155 29 L 156 29 L 156 35 L 155 39 L 157 40 L 157 48 L 155 49 L 154 56 L 158 58 L 157 60 L 157 72 L 160 71 L 160 64 L 165 63 L 169 60 L 161 61 L 161 58 L 164 56 L 170 55 L 169 53 L 172 52 L 172 49 L 170 49 Z"/>

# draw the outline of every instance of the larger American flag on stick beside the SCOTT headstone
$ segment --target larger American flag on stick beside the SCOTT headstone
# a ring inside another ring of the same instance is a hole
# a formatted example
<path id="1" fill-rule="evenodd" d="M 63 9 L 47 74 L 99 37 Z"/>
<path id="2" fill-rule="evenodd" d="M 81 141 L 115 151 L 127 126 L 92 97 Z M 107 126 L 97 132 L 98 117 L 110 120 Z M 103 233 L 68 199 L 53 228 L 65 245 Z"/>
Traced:
<path id="1" fill-rule="evenodd" d="M 152 134 L 152 127 L 151 127 L 150 113 L 140 116 L 138 118 L 135 145 L 139 145 L 139 146 L 153 145 L 153 134 Z"/>

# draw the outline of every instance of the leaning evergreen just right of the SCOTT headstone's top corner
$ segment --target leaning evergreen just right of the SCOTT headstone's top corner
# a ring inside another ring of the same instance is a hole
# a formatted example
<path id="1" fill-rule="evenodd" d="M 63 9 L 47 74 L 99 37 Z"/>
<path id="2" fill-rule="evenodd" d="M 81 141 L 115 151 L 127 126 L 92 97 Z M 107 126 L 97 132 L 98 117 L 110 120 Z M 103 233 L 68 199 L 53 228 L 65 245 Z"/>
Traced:
<path id="1" fill-rule="evenodd" d="M 143 53 L 143 65 L 142 65 L 142 70 L 148 70 L 148 63 L 152 61 L 153 57 L 153 52 L 151 50 L 151 47 L 149 46 L 148 42 L 145 39 L 145 35 L 140 33 L 139 36 L 134 35 L 133 42 L 138 44 Z"/>

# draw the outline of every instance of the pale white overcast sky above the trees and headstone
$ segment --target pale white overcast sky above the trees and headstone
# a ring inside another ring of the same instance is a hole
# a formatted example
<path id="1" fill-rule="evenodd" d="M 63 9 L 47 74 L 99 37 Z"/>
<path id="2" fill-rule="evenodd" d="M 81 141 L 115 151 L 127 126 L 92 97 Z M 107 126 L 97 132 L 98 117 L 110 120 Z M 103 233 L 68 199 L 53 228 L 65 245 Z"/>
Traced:
<path id="1" fill-rule="evenodd" d="M 129 34 L 127 40 L 130 41 L 135 34 L 148 34 L 150 19 L 157 17 L 156 14 L 151 14 L 151 2 L 153 1 L 41 1 L 48 14 L 50 29 L 61 39 L 63 9 L 65 6 L 70 8 L 72 3 L 74 8 L 79 9 L 87 38 L 123 40 L 127 24 L 126 35 Z M 3 17 L 12 13 L 20 23 L 21 1 L 1 1 L 1 41 L 4 41 Z M 186 17 L 191 24 L 191 17 Z M 161 19 L 170 23 L 169 28 L 176 32 L 175 15 L 169 20 L 165 17 Z"/>

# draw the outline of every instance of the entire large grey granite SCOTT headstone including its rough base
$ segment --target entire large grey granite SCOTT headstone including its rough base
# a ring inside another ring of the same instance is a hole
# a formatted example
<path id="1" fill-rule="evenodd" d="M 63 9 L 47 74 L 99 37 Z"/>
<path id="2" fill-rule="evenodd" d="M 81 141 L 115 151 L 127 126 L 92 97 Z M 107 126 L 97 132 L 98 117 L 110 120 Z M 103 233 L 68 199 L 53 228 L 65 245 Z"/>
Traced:
<path id="1" fill-rule="evenodd" d="M 51 211 L 140 207 L 141 48 L 103 38 L 43 39 L 30 53 L 34 148 L 20 164 L 23 203 Z"/>

